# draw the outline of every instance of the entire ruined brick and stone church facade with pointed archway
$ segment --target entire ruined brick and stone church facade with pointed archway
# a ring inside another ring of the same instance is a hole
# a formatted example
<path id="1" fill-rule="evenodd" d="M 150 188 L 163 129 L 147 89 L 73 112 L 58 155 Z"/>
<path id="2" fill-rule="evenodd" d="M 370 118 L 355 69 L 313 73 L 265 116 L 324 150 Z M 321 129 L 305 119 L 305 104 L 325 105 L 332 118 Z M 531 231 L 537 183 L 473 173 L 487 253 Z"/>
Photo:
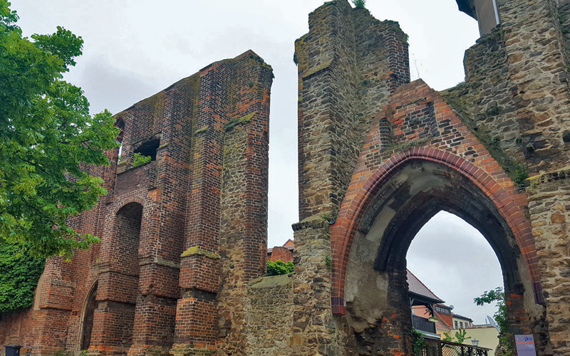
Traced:
<path id="1" fill-rule="evenodd" d="M 36 305 L 0 320 L 0 342 L 41 355 L 412 355 L 405 256 L 445 210 L 497 253 L 512 334 L 570 355 L 570 4 L 457 4 L 482 37 L 465 83 L 439 93 L 410 83 L 398 23 L 346 0 L 309 15 L 294 56 L 294 273 L 263 277 L 272 74 L 248 51 L 117 115 L 122 158 L 93 172 L 110 193 L 73 221 L 101 243 L 48 261 Z M 135 153 L 152 160 L 133 167 Z"/>

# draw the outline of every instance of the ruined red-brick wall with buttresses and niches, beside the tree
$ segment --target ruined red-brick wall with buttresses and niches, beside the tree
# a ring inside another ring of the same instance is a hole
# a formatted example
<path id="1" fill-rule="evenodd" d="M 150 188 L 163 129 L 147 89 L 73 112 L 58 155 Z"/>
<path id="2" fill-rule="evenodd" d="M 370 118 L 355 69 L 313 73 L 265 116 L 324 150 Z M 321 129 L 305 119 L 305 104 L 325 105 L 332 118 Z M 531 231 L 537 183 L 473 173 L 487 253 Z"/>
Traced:
<path id="1" fill-rule="evenodd" d="M 36 310 L 0 320 L 0 337 L 43 355 L 81 350 L 89 337 L 89 353 L 99 355 L 210 355 L 223 345 L 219 303 L 241 310 L 232 291 L 244 295 L 265 271 L 271 80 L 271 67 L 247 51 L 116 115 L 120 162 L 114 150 L 109 167 L 86 167 L 109 193 L 71 221 L 101 243 L 71 262 L 49 260 Z M 135 152 L 152 161 L 133 167 Z M 222 206 L 227 196 L 234 200 Z M 225 235 L 239 244 L 224 246 L 220 259 Z M 243 274 L 220 281 L 221 263 Z M 218 296 L 226 281 L 239 283 Z M 236 313 L 232 321 L 243 324 Z"/>

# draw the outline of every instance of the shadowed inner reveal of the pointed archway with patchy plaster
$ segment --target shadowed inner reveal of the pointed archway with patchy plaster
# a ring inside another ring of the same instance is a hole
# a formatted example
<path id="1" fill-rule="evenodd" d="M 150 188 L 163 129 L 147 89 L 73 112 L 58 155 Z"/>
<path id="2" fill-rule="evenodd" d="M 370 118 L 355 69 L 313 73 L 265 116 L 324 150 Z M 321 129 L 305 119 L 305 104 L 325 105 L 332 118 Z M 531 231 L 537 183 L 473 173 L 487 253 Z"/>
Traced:
<path id="1" fill-rule="evenodd" d="M 544 312 L 535 303 L 536 281 L 528 268 L 529 258 L 519 246 L 524 241 L 512 230 L 516 224 L 507 222 L 510 218 L 500 211 L 497 200 L 489 198 L 465 172 L 434 161 L 410 157 L 396 164 L 359 204 L 361 211 L 355 209 L 352 241 L 344 241 L 348 246 L 344 285 L 335 286 L 333 295 L 337 292 L 346 305 L 346 322 L 355 331 L 355 347 L 366 347 L 372 355 L 387 348 L 406 355 L 411 352 L 406 256 L 418 231 L 439 211 L 448 211 L 474 226 L 497 255 L 513 334 L 534 333 L 536 320 Z M 509 204 L 508 195 L 502 199 L 501 204 Z M 342 241 L 342 234 L 335 235 L 331 237 L 333 250 Z M 333 267 L 333 281 L 342 276 L 338 273 L 343 268 L 340 262 Z"/>

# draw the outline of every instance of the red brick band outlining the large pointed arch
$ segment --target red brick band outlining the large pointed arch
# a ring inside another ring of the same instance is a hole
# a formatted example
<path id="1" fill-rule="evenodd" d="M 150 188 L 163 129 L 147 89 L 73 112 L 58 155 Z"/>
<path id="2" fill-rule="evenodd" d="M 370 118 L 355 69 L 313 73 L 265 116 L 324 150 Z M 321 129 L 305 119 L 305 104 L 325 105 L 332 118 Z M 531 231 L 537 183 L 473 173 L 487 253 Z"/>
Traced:
<path id="1" fill-rule="evenodd" d="M 534 301 L 544 303 L 539 282 L 539 269 L 537 262 L 537 250 L 534 246 L 531 226 L 525 218 L 522 206 L 527 204 L 525 194 L 519 193 L 513 185 L 501 184 L 494 174 L 489 174 L 484 169 L 475 166 L 462 157 L 453 155 L 450 152 L 436 150 L 428 147 L 414 147 L 405 152 L 394 155 L 369 177 L 361 187 L 358 188 L 353 199 L 345 199 L 341 205 L 336 223 L 331 226 L 331 249 L 333 255 L 331 298 L 332 310 L 334 314 L 344 315 L 346 313 L 344 303 L 346 267 L 351 245 L 356 231 L 361 228 L 363 216 L 371 206 L 375 195 L 388 182 L 390 177 L 405 167 L 406 164 L 420 160 L 424 162 L 434 162 L 453 169 L 468 179 L 472 184 L 480 189 L 485 197 L 492 201 L 499 214 L 506 221 L 512 235 L 517 241 L 517 246 L 522 253 L 524 263 L 527 266 Z M 501 178 L 507 179 L 507 178 Z"/>

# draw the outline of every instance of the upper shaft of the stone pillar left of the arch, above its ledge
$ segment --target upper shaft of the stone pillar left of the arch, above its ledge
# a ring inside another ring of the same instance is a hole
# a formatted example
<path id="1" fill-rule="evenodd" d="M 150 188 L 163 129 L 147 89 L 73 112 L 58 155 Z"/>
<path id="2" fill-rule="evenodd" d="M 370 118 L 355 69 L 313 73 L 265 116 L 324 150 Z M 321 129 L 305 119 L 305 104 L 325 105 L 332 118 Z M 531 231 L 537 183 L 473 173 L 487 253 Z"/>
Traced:
<path id="1" fill-rule="evenodd" d="M 309 28 L 295 43 L 301 220 L 341 203 L 375 110 L 410 80 L 398 23 L 329 1 L 309 15 Z"/>

